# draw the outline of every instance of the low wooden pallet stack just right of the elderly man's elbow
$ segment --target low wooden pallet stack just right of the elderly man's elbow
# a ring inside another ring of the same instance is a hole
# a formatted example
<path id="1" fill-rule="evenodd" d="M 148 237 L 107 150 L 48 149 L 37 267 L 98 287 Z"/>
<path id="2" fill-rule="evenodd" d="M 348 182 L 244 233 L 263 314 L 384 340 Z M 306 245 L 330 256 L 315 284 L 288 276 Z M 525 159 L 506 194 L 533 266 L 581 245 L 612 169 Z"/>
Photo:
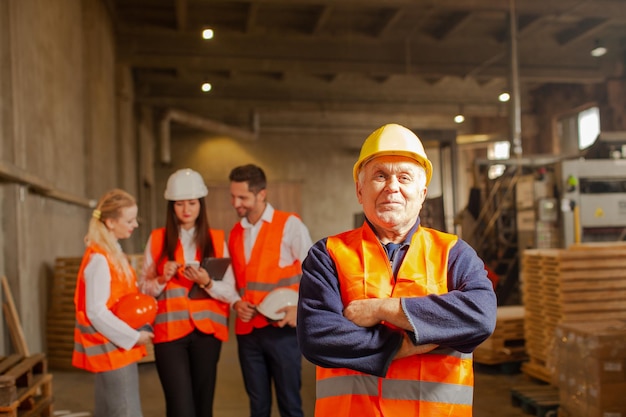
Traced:
<path id="1" fill-rule="evenodd" d="M 498 307 L 493 334 L 474 351 L 474 361 L 486 365 L 520 362 L 526 359 L 524 347 L 524 307 Z"/>

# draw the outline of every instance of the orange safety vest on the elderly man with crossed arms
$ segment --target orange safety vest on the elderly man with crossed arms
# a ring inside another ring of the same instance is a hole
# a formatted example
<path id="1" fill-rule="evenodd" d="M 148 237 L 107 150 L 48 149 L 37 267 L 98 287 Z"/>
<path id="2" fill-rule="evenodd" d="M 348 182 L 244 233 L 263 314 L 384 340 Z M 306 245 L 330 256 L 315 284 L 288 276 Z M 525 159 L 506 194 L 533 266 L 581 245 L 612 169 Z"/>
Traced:
<path id="1" fill-rule="evenodd" d="M 420 227 L 394 279 L 391 265 L 367 226 L 327 239 L 344 306 L 363 298 L 444 294 L 448 254 L 456 236 Z M 471 417 L 471 354 L 450 348 L 394 360 L 384 378 L 317 367 L 315 415 Z"/>

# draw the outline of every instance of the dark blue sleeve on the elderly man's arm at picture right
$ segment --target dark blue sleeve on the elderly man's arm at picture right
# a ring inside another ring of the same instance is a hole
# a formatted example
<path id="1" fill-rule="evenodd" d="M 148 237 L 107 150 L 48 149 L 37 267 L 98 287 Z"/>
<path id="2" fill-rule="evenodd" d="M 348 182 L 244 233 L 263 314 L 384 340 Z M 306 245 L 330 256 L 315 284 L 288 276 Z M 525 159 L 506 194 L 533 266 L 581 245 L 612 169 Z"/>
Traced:
<path id="1" fill-rule="evenodd" d="M 404 298 L 402 307 L 418 345 L 434 343 L 470 353 L 496 325 L 496 295 L 485 265 L 460 239 L 449 253 L 448 293 Z"/>

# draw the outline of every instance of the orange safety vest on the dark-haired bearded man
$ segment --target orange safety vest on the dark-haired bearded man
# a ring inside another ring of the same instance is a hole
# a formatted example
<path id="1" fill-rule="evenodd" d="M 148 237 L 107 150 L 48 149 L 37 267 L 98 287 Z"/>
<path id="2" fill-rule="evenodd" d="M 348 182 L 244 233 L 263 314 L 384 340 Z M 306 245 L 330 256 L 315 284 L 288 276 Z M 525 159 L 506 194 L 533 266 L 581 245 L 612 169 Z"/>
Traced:
<path id="1" fill-rule="evenodd" d="M 283 230 L 290 216 L 295 216 L 295 214 L 274 210 L 272 221 L 263 222 L 247 264 L 243 249 L 244 229 L 241 223 L 237 223 L 231 230 L 228 250 L 232 258 L 237 289 L 242 300 L 259 305 L 265 296 L 276 288 L 291 288 L 295 291 L 300 288 L 302 277 L 300 261 L 296 260 L 284 268 L 278 266 Z M 255 328 L 269 324 L 270 322 L 262 314 L 255 315 L 249 322 L 243 322 L 237 317 L 235 333 L 248 334 Z"/>

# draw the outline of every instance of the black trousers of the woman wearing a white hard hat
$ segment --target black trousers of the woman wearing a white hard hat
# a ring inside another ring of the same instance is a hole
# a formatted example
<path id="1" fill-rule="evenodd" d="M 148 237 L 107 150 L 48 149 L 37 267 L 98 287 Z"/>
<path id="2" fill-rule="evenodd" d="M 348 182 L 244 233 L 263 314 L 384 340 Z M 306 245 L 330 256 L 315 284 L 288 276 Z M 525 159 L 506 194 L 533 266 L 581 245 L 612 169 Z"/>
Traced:
<path id="1" fill-rule="evenodd" d="M 167 417 L 212 417 L 222 341 L 197 329 L 154 345 Z"/>

